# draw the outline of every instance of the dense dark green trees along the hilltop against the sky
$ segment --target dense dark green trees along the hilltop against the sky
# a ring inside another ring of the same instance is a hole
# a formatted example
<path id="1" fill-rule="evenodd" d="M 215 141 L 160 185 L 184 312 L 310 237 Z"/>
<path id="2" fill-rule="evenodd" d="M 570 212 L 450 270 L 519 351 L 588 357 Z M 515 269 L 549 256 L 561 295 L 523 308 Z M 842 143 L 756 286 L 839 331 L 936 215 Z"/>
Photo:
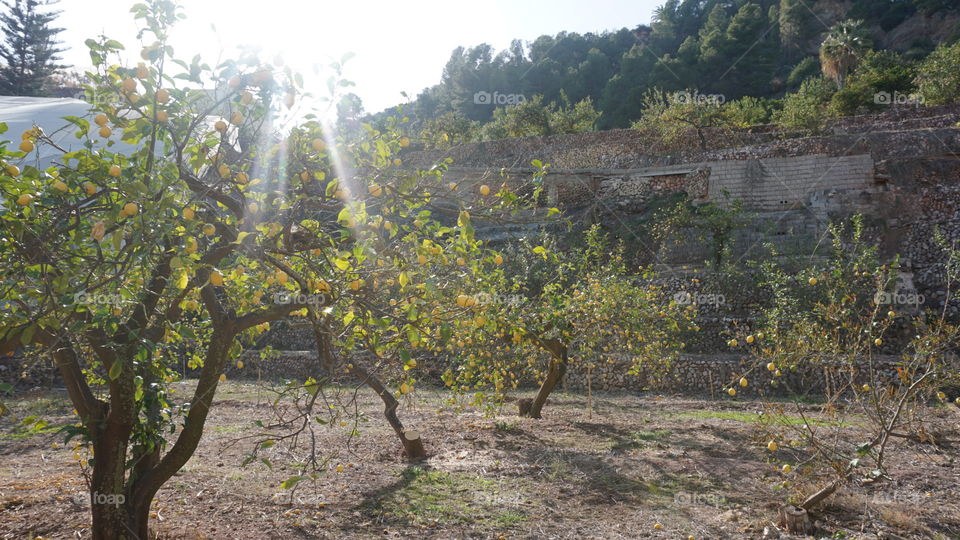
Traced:
<path id="1" fill-rule="evenodd" d="M 868 49 L 864 28 L 892 29 L 918 12 L 955 10 L 941 0 L 875 2 L 844 6 L 849 21 L 834 27 L 823 50 L 827 75 L 838 86 Z M 644 114 L 644 96 L 654 88 L 677 92 L 697 88 L 727 102 L 744 96 L 774 99 L 820 72 L 810 57 L 824 41 L 824 27 L 812 0 L 669 0 L 649 26 L 603 33 L 561 32 L 528 45 L 513 41 L 503 51 L 490 45 L 458 47 L 438 84 L 421 92 L 412 105 L 414 129 L 432 119 L 491 122 L 494 108 L 478 94 L 542 96 L 545 107 L 566 107 L 589 98 L 600 114 L 598 129 L 625 128 Z M 897 44 L 912 46 L 913 44 Z M 931 47 L 933 44 L 931 43 Z M 376 123 L 381 115 L 374 115 Z M 542 126 L 543 124 L 534 123 Z M 488 132 L 502 130 L 488 130 Z M 523 133 L 542 132 L 521 130 Z M 451 134 L 451 137 L 453 135 Z"/>

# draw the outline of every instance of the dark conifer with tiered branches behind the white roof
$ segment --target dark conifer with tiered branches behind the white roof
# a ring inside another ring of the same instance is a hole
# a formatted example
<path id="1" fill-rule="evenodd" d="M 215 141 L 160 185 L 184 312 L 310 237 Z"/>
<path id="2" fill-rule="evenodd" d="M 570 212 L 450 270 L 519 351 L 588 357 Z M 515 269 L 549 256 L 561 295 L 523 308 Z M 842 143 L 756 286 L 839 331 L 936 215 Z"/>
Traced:
<path id="1" fill-rule="evenodd" d="M 51 23 L 59 11 L 44 11 L 57 0 L 4 0 L 0 29 L 0 95 L 40 96 L 44 83 L 58 69 L 64 49 L 56 40 L 62 28 Z"/>

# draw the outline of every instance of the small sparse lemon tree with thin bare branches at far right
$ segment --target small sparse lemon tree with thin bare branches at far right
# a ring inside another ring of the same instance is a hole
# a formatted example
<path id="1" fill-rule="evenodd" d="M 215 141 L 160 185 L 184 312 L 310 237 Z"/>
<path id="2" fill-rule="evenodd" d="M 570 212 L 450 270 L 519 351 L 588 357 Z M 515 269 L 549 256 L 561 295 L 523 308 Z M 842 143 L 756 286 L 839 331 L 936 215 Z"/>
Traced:
<path id="1" fill-rule="evenodd" d="M 799 271 L 773 260 L 760 265 L 758 286 L 770 293 L 771 301 L 756 324 L 742 329 L 739 339 L 730 343 L 755 361 L 742 381 L 762 379 L 756 372 L 768 372 L 771 384 L 785 388 L 798 403 L 810 389 L 790 382 L 787 375 L 798 369 L 830 374 L 823 409 L 833 422 L 813 421 L 799 406 L 802 421 L 797 422 L 782 402 L 765 406 L 763 429 L 771 456 L 788 466 L 802 461 L 803 472 L 814 477 L 826 474 L 825 487 L 796 501 L 808 510 L 855 477 L 886 477 L 885 452 L 893 437 L 934 441 L 925 427 L 923 407 L 931 397 L 946 399 L 938 388 L 956 384 L 958 376 L 950 351 L 960 343 L 960 328 L 942 314 L 897 313 L 885 295 L 896 290 L 898 263 L 877 260 L 861 219 L 855 217 L 849 228 L 831 226 L 831 237 L 832 254 L 822 265 Z M 904 334 L 910 338 L 904 340 Z M 902 345 L 892 365 L 882 357 L 892 351 L 887 341 Z M 731 381 L 731 388 L 735 386 Z M 847 421 L 852 415 L 864 420 Z M 863 427 L 868 438 L 861 443 L 838 436 Z"/>

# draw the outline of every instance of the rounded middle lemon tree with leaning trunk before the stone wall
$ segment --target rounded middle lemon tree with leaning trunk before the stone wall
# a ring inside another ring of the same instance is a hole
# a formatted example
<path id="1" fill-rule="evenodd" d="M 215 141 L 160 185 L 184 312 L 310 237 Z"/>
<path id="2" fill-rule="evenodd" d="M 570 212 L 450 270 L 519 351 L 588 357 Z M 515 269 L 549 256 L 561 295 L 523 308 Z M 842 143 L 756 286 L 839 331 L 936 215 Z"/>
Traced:
<path id="1" fill-rule="evenodd" d="M 520 402 L 520 414 L 540 418 L 547 397 L 572 362 L 620 363 L 650 384 L 666 375 L 693 327 L 693 308 L 679 306 L 655 284 L 655 274 L 628 271 L 622 246 L 592 227 L 580 247 L 561 249 L 549 237 L 515 255 L 494 257 L 502 267 L 464 281 L 452 299 L 459 314 L 443 350 L 452 364 L 446 384 L 459 392 L 502 397 L 522 382 L 539 391 Z M 532 257 L 531 257 L 532 255 Z M 498 265 L 499 266 L 499 265 Z"/>

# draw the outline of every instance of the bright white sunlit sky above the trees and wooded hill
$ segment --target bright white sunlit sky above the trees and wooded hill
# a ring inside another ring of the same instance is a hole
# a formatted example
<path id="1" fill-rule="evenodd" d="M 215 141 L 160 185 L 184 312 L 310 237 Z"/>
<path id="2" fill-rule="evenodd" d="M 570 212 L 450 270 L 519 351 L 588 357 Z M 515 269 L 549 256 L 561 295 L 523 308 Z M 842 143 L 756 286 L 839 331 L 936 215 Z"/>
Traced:
<path id="1" fill-rule="evenodd" d="M 457 46 L 489 43 L 502 50 L 514 38 L 533 41 L 543 34 L 601 32 L 650 22 L 664 0 L 181 0 L 187 20 L 173 39 L 177 56 L 200 53 L 213 63 L 222 51 L 234 55 L 242 44 L 259 46 L 264 58 L 283 54 L 307 76 L 312 65 L 329 64 L 346 52 L 356 56 L 345 77 L 367 112 L 413 98 L 440 80 Z M 58 24 L 69 51 L 64 60 L 85 70 L 85 39 L 101 33 L 131 50 L 139 61 L 133 0 L 61 0 Z M 211 28 L 215 25 L 216 31 Z M 308 82 L 310 79 L 307 79 Z"/>

